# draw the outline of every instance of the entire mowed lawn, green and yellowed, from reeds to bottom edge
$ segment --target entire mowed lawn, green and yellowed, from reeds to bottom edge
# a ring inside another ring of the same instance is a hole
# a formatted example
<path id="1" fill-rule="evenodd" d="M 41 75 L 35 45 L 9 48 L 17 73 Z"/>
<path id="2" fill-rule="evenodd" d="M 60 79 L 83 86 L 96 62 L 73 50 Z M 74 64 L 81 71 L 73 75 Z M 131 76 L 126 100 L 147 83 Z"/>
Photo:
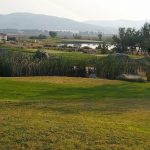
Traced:
<path id="1" fill-rule="evenodd" d="M 149 150 L 150 83 L 0 78 L 0 150 Z"/>

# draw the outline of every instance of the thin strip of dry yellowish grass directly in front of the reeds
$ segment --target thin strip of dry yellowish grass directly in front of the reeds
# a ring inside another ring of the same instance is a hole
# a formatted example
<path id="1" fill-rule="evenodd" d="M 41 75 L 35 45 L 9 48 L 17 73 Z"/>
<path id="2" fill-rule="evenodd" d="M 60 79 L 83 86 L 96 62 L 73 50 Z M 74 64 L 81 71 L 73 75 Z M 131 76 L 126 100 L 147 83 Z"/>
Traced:
<path id="1" fill-rule="evenodd" d="M 52 83 L 59 85 L 71 85 L 79 87 L 93 87 L 98 85 L 116 85 L 122 82 L 117 80 L 105 80 L 105 79 L 87 79 L 87 78 L 73 78 L 73 77 L 14 77 L 14 78 L 0 78 L 9 79 L 12 81 L 26 81 L 32 83 Z"/>

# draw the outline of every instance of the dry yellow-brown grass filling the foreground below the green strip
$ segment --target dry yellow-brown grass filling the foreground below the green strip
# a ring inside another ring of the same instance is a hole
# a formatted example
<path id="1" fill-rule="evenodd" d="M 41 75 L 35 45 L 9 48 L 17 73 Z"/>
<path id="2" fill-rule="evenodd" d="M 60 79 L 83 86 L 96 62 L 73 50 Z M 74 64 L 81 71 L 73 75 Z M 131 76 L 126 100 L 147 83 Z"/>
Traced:
<path id="1" fill-rule="evenodd" d="M 0 149 L 150 148 L 150 102 L 1 102 Z"/>

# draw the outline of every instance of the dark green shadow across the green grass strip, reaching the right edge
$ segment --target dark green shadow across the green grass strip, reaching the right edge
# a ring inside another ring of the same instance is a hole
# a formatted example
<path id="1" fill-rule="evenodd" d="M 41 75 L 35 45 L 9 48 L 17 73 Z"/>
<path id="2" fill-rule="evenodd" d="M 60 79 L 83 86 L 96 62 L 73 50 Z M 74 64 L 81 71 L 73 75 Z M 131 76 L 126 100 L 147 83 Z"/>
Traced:
<path id="1" fill-rule="evenodd" d="M 140 87 L 136 84 L 119 84 L 119 85 L 101 85 L 95 87 L 57 87 L 41 91 L 37 98 L 44 96 L 46 99 L 53 100 L 74 100 L 74 99 L 120 99 L 120 98 L 150 98 L 150 87 Z M 44 99 L 43 97 L 43 99 Z"/>

